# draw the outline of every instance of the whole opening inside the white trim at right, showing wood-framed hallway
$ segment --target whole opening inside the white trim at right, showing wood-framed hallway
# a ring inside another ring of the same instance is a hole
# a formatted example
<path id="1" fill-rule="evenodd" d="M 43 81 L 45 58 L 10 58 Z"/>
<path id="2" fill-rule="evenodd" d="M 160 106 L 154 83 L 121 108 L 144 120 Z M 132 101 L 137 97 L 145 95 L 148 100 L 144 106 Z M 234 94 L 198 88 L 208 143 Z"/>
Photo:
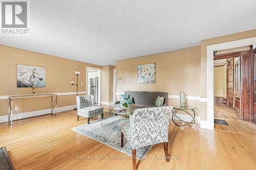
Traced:
<path id="1" fill-rule="evenodd" d="M 252 45 L 215 52 L 215 129 L 242 132 L 253 122 L 252 61 Z"/>

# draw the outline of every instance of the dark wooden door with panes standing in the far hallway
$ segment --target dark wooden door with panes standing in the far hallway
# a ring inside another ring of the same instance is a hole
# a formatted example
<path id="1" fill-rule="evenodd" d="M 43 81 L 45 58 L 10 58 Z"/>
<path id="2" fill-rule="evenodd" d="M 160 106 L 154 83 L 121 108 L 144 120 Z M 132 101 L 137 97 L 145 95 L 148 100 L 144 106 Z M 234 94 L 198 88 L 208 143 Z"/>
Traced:
<path id="1" fill-rule="evenodd" d="M 233 109 L 234 104 L 234 59 L 227 61 L 227 106 Z"/>

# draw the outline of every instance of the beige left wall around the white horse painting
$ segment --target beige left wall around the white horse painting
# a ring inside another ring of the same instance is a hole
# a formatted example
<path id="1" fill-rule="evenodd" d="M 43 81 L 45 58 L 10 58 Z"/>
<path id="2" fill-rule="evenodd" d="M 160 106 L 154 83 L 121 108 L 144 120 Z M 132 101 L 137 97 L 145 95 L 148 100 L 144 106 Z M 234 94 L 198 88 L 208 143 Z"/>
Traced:
<path id="1" fill-rule="evenodd" d="M 74 71 L 81 71 L 79 75 L 78 91 L 86 91 L 86 66 L 101 68 L 101 66 L 68 60 L 60 57 L 31 52 L 0 45 L 0 95 L 30 94 L 31 88 L 17 88 L 16 65 L 35 65 L 46 67 L 46 87 L 36 88 L 36 93 L 74 92 L 76 87 L 70 81 L 76 81 Z M 81 85 L 83 83 L 83 85 Z M 75 95 L 61 95 L 58 98 L 58 107 L 75 105 Z M 18 107 L 16 113 L 49 109 L 50 99 L 23 99 L 15 100 Z M 0 115 L 8 114 L 8 101 L 0 100 Z"/>

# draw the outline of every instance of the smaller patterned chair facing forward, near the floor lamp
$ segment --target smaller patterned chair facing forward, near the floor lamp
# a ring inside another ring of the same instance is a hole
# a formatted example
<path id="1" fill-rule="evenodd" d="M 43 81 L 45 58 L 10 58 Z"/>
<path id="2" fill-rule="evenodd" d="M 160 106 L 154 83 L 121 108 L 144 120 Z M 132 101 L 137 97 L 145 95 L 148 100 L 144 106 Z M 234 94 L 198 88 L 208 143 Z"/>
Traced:
<path id="1" fill-rule="evenodd" d="M 94 106 L 94 96 L 93 95 L 79 95 L 76 96 L 77 103 L 77 121 L 79 116 L 87 118 L 87 123 L 90 124 L 90 117 L 97 116 L 101 114 L 103 119 L 103 107 Z"/>

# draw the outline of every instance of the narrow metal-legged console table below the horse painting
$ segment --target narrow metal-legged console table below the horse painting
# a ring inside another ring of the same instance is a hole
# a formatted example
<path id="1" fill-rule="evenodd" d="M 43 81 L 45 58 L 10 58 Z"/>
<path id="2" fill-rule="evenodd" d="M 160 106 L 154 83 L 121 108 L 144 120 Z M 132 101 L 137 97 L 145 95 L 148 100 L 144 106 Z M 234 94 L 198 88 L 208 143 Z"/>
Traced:
<path id="1" fill-rule="evenodd" d="M 12 110 L 13 110 L 13 100 L 15 99 L 26 99 L 26 98 L 44 98 L 50 97 L 51 98 L 51 114 L 57 115 L 56 108 L 57 108 L 57 94 L 26 94 L 26 95 L 9 95 L 8 99 L 8 122 L 12 126 Z M 55 100 L 54 100 L 55 97 Z M 55 113 L 53 110 L 55 108 Z"/>

